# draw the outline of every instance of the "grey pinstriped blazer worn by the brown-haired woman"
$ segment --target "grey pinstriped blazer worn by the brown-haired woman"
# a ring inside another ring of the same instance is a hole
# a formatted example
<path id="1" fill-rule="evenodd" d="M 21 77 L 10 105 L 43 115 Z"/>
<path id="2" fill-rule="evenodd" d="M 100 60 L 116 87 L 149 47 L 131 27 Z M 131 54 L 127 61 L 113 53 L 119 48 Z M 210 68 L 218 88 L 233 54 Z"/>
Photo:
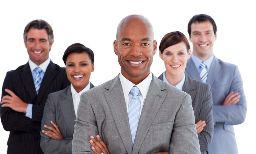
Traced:
<path id="1" fill-rule="evenodd" d="M 158 77 L 163 80 L 163 73 Z M 209 84 L 205 84 L 186 76 L 182 91 L 191 96 L 195 122 L 205 120 L 204 130 L 198 134 L 201 153 L 206 154 L 213 136 L 212 91 Z"/>

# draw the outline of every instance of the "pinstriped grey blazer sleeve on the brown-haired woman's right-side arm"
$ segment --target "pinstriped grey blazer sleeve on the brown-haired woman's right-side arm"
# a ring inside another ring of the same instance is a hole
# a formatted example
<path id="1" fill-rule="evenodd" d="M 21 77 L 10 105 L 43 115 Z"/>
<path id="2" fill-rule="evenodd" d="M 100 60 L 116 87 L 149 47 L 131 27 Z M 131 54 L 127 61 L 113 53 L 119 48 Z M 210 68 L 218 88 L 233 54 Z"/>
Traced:
<path id="1" fill-rule="evenodd" d="M 198 116 L 199 120 L 205 120 L 206 126 L 204 130 L 198 134 L 200 150 L 201 152 L 206 151 L 210 148 L 213 136 L 213 114 L 212 114 L 212 91 L 211 86 L 207 85 L 205 97 L 202 103 L 201 111 Z M 197 122 L 197 121 L 196 121 Z"/>

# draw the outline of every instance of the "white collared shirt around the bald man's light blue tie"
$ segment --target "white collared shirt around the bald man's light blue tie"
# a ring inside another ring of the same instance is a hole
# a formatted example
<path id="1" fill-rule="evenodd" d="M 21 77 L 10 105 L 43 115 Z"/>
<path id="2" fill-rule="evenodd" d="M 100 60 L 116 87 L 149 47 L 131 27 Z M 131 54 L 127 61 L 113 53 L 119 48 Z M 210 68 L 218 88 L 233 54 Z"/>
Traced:
<path id="1" fill-rule="evenodd" d="M 135 85 L 131 81 L 127 80 L 122 75 L 122 73 L 119 74 L 119 79 L 121 81 L 121 85 L 122 85 L 123 92 L 124 92 L 124 99 L 125 99 L 127 112 L 128 112 L 129 102 L 132 99 L 132 94 L 130 94 L 130 91 L 133 86 L 136 86 L 140 89 L 139 99 L 140 99 L 140 103 L 141 103 L 141 108 L 140 108 L 140 114 L 141 114 L 145 98 L 148 94 L 148 89 L 149 89 L 149 85 L 152 80 L 152 77 L 153 77 L 152 73 L 150 72 L 149 75 L 143 81 L 141 81 L 139 84 Z"/>

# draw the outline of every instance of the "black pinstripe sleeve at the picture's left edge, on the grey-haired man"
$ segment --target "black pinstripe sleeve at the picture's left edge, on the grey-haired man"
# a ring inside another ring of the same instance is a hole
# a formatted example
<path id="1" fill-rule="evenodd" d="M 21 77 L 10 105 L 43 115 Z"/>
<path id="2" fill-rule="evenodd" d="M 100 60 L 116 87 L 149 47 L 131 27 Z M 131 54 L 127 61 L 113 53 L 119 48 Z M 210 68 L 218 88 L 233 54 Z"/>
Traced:
<path id="1" fill-rule="evenodd" d="M 9 95 L 4 91 L 4 89 L 10 89 L 16 94 L 16 89 L 13 86 L 11 72 L 7 72 L 3 87 L 2 87 L 2 97 Z M 26 102 L 29 103 L 29 102 Z M 34 105 L 33 105 L 34 106 Z M 6 131 L 25 131 L 25 132 L 38 132 L 40 127 L 38 127 L 38 122 L 25 116 L 25 113 L 16 112 L 9 107 L 1 108 L 1 122 L 3 124 L 4 130 Z M 37 128 L 38 127 L 38 128 Z"/>

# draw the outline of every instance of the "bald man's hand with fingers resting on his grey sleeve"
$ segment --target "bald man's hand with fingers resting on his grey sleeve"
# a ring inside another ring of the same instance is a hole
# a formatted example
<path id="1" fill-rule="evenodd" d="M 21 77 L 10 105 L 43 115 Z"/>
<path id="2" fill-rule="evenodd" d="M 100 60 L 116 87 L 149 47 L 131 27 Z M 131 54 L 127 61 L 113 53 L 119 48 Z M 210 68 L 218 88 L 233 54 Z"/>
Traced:
<path id="1" fill-rule="evenodd" d="M 91 147 L 92 152 L 94 152 L 96 154 L 101 154 L 101 153 L 109 154 L 108 147 L 102 141 L 100 136 L 96 135 L 96 137 L 97 137 L 97 140 L 93 136 L 90 136 L 91 140 L 89 140 L 89 143 L 92 145 L 92 147 Z"/>

